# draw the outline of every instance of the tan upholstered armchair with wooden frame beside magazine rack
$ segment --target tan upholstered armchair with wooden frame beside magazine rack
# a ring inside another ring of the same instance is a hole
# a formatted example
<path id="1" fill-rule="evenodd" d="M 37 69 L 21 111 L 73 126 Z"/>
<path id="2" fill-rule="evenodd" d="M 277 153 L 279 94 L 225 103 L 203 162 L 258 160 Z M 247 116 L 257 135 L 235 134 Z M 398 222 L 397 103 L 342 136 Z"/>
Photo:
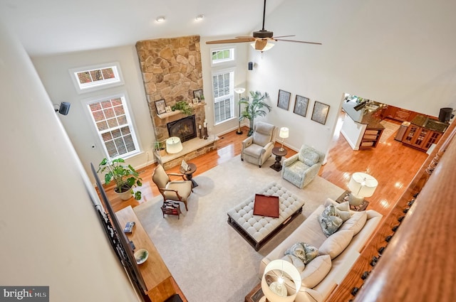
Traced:
<path id="1" fill-rule="evenodd" d="M 171 180 L 170 176 L 180 176 L 183 180 Z M 164 202 L 179 201 L 184 203 L 185 210 L 188 210 L 187 200 L 192 193 L 192 181 L 185 180 L 184 174 L 166 173 L 162 165 L 157 165 L 152 173 L 152 181 L 157 185 Z"/>

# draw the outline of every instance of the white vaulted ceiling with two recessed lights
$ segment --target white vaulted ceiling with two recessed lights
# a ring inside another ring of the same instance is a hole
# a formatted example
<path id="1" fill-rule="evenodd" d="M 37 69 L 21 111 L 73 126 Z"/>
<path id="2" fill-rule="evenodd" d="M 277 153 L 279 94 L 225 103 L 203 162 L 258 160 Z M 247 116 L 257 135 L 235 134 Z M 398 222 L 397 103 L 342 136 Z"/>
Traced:
<path id="1" fill-rule="evenodd" d="M 286 0 L 269 0 L 266 15 Z M 259 29 L 262 0 L 0 0 L 0 19 L 29 55 L 131 45 L 150 38 L 239 36 Z M 198 15 L 204 15 L 200 21 Z M 156 18 L 165 16 L 159 23 Z"/>

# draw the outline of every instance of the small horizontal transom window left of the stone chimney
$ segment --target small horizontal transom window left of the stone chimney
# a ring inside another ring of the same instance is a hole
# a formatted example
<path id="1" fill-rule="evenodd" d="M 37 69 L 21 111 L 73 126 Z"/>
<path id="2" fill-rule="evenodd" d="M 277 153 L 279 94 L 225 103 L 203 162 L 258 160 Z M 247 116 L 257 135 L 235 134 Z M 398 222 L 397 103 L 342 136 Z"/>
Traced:
<path id="1" fill-rule="evenodd" d="M 79 93 L 123 85 L 118 63 L 75 68 L 70 73 Z"/>

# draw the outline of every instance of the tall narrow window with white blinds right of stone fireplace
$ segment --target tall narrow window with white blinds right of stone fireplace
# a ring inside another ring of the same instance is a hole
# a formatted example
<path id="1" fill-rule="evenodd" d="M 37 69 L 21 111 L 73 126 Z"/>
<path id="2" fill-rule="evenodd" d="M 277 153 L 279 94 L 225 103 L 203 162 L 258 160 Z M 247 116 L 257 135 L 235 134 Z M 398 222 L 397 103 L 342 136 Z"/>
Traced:
<path id="1" fill-rule="evenodd" d="M 215 124 L 234 117 L 234 70 L 224 70 L 212 75 Z"/>

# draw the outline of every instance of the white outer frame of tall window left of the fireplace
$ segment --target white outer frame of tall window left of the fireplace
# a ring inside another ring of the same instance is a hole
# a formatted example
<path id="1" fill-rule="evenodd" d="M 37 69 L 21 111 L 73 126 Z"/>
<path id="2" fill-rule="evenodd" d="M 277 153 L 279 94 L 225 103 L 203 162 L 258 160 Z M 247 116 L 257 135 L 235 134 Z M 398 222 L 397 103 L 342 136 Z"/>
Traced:
<path id="1" fill-rule="evenodd" d="M 127 124 L 123 124 L 122 126 L 128 125 L 128 127 L 130 128 L 130 134 L 133 139 L 133 144 L 135 145 L 135 150 L 127 152 L 127 153 L 123 153 L 123 154 L 118 154 L 117 156 L 111 157 L 111 156 L 109 156 L 108 149 L 106 148 L 105 141 L 103 140 L 102 135 L 105 132 L 120 128 L 121 126 L 109 128 L 109 129 L 106 129 L 105 131 L 99 131 L 98 126 L 95 122 L 95 117 L 93 117 L 93 114 L 90 110 L 90 104 L 97 103 L 97 102 L 103 102 L 108 99 L 116 99 L 116 98 L 120 98 L 122 100 L 123 110 L 125 112 L 125 118 L 127 119 Z M 125 92 L 120 92 L 120 93 L 117 93 L 114 95 L 102 95 L 102 96 L 92 97 L 90 99 L 83 100 L 84 107 L 86 108 L 86 114 L 88 114 L 88 117 L 90 118 L 90 121 L 92 122 L 92 127 L 93 127 L 92 129 L 93 129 L 94 133 L 96 134 L 96 136 L 98 137 L 98 140 L 100 141 L 100 145 L 103 147 L 103 151 L 105 153 L 106 158 L 109 158 L 110 160 L 113 160 L 115 158 L 129 158 L 129 157 L 135 156 L 141 152 L 140 144 L 138 141 L 138 136 L 136 135 L 136 131 L 135 131 L 135 125 L 133 123 L 133 118 L 130 114 L 129 103 L 130 102 L 128 101 L 128 95 Z"/>

